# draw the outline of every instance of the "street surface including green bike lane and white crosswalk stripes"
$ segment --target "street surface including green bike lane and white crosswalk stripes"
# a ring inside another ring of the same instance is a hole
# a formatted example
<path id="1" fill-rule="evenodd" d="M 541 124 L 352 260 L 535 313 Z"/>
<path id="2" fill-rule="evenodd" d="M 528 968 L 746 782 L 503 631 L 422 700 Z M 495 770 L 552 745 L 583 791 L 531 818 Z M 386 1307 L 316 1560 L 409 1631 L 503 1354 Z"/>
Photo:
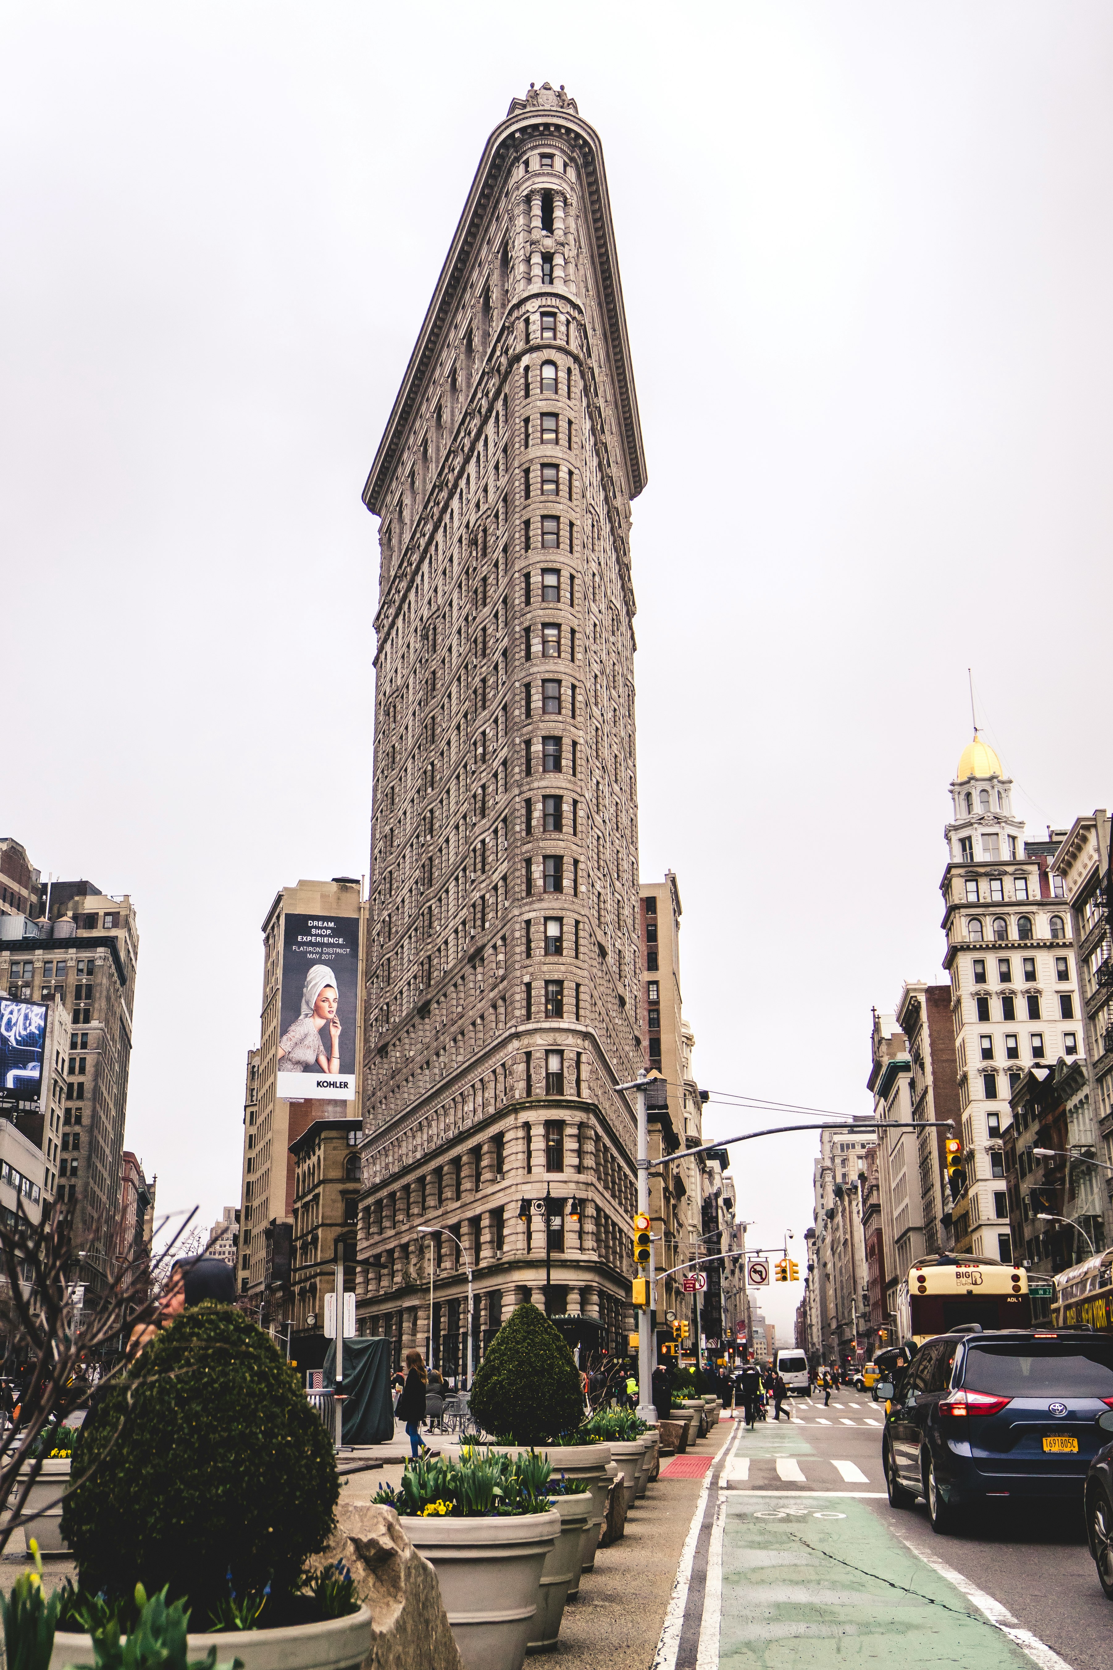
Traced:
<path id="1" fill-rule="evenodd" d="M 793 1416 L 743 1433 L 724 1466 L 724 1667 L 814 1670 L 816 1652 L 834 1650 L 863 1663 L 1030 1670 L 1045 1643 L 1071 1670 L 1108 1670 L 1113 1605 L 1081 1508 L 1003 1505 L 938 1536 L 923 1503 L 888 1505 L 883 1409 L 869 1396 L 844 1391 L 826 1409 L 794 1399 Z M 1050 1655 L 1043 1665 L 1056 1670 Z"/>

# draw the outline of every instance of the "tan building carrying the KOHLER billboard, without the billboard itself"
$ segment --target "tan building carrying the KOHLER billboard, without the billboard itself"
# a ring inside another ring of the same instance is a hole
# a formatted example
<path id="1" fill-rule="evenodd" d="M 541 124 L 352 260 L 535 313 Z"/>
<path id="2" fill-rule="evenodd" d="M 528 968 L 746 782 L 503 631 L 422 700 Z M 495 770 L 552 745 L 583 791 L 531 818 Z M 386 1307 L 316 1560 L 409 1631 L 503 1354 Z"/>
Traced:
<path id="1" fill-rule="evenodd" d="M 299 882 L 280 888 L 262 922 L 264 989 L 259 1049 L 247 1054 L 244 1084 L 244 1157 L 240 1181 L 240 1293 L 260 1306 L 260 1318 L 284 1328 L 294 1309 L 294 1192 L 292 1146 L 320 1119 L 360 1117 L 360 1101 L 297 1099 L 279 1096 L 279 1037 L 282 1032 L 282 972 L 285 918 L 349 917 L 359 922 L 365 944 L 362 885 L 352 877 Z M 355 1014 L 355 1062 L 362 1059 L 362 974 Z"/>

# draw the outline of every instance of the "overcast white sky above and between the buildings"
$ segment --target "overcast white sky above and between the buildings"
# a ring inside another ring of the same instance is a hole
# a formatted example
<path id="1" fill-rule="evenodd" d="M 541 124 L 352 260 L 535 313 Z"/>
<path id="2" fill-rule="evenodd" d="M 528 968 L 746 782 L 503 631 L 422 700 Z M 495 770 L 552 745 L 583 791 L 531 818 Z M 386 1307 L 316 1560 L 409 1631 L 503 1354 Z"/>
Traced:
<path id="1" fill-rule="evenodd" d="M 137 903 L 162 1207 L 239 1199 L 275 888 L 367 870 L 360 488 L 531 80 L 606 149 L 696 1067 L 868 1111 L 966 666 L 1033 835 L 1110 800 L 1111 57 L 1098 3 L 0 10 L 0 832 Z M 814 1151 L 734 1151 L 751 1241 Z"/>

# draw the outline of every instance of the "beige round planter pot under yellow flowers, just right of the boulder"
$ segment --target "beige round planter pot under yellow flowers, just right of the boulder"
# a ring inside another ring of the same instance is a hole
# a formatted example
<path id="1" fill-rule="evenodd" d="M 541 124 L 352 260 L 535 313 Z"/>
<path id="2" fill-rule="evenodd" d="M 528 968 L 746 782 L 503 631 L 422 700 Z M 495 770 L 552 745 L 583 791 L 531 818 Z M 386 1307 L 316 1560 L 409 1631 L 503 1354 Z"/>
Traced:
<path id="1" fill-rule="evenodd" d="M 534 1633 L 541 1571 L 561 1536 L 561 1515 L 407 1516 L 402 1525 L 437 1573 L 466 1670 L 521 1670 Z"/>

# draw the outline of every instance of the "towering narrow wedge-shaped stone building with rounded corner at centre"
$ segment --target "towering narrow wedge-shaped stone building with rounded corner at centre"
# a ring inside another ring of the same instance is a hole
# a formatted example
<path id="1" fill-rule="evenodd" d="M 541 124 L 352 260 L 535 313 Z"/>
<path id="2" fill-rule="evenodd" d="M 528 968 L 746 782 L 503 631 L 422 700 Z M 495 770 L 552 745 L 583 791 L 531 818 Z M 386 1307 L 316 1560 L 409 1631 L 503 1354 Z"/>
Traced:
<path id="1" fill-rule="evenodd" d="M 644 483 L 599 135 L 531 87 L 487 140 L 364 489 L 380 598 L 359 1318 L 421 1344 L 432 1258 L 449 1364 L 467 1263 L 479 1346 L 546 1288 L 579 1343 L 629 1328 L 616 1086 L 642 1060 Z M 546 1189 L 562 1206 L 522 1216 Z"/>

